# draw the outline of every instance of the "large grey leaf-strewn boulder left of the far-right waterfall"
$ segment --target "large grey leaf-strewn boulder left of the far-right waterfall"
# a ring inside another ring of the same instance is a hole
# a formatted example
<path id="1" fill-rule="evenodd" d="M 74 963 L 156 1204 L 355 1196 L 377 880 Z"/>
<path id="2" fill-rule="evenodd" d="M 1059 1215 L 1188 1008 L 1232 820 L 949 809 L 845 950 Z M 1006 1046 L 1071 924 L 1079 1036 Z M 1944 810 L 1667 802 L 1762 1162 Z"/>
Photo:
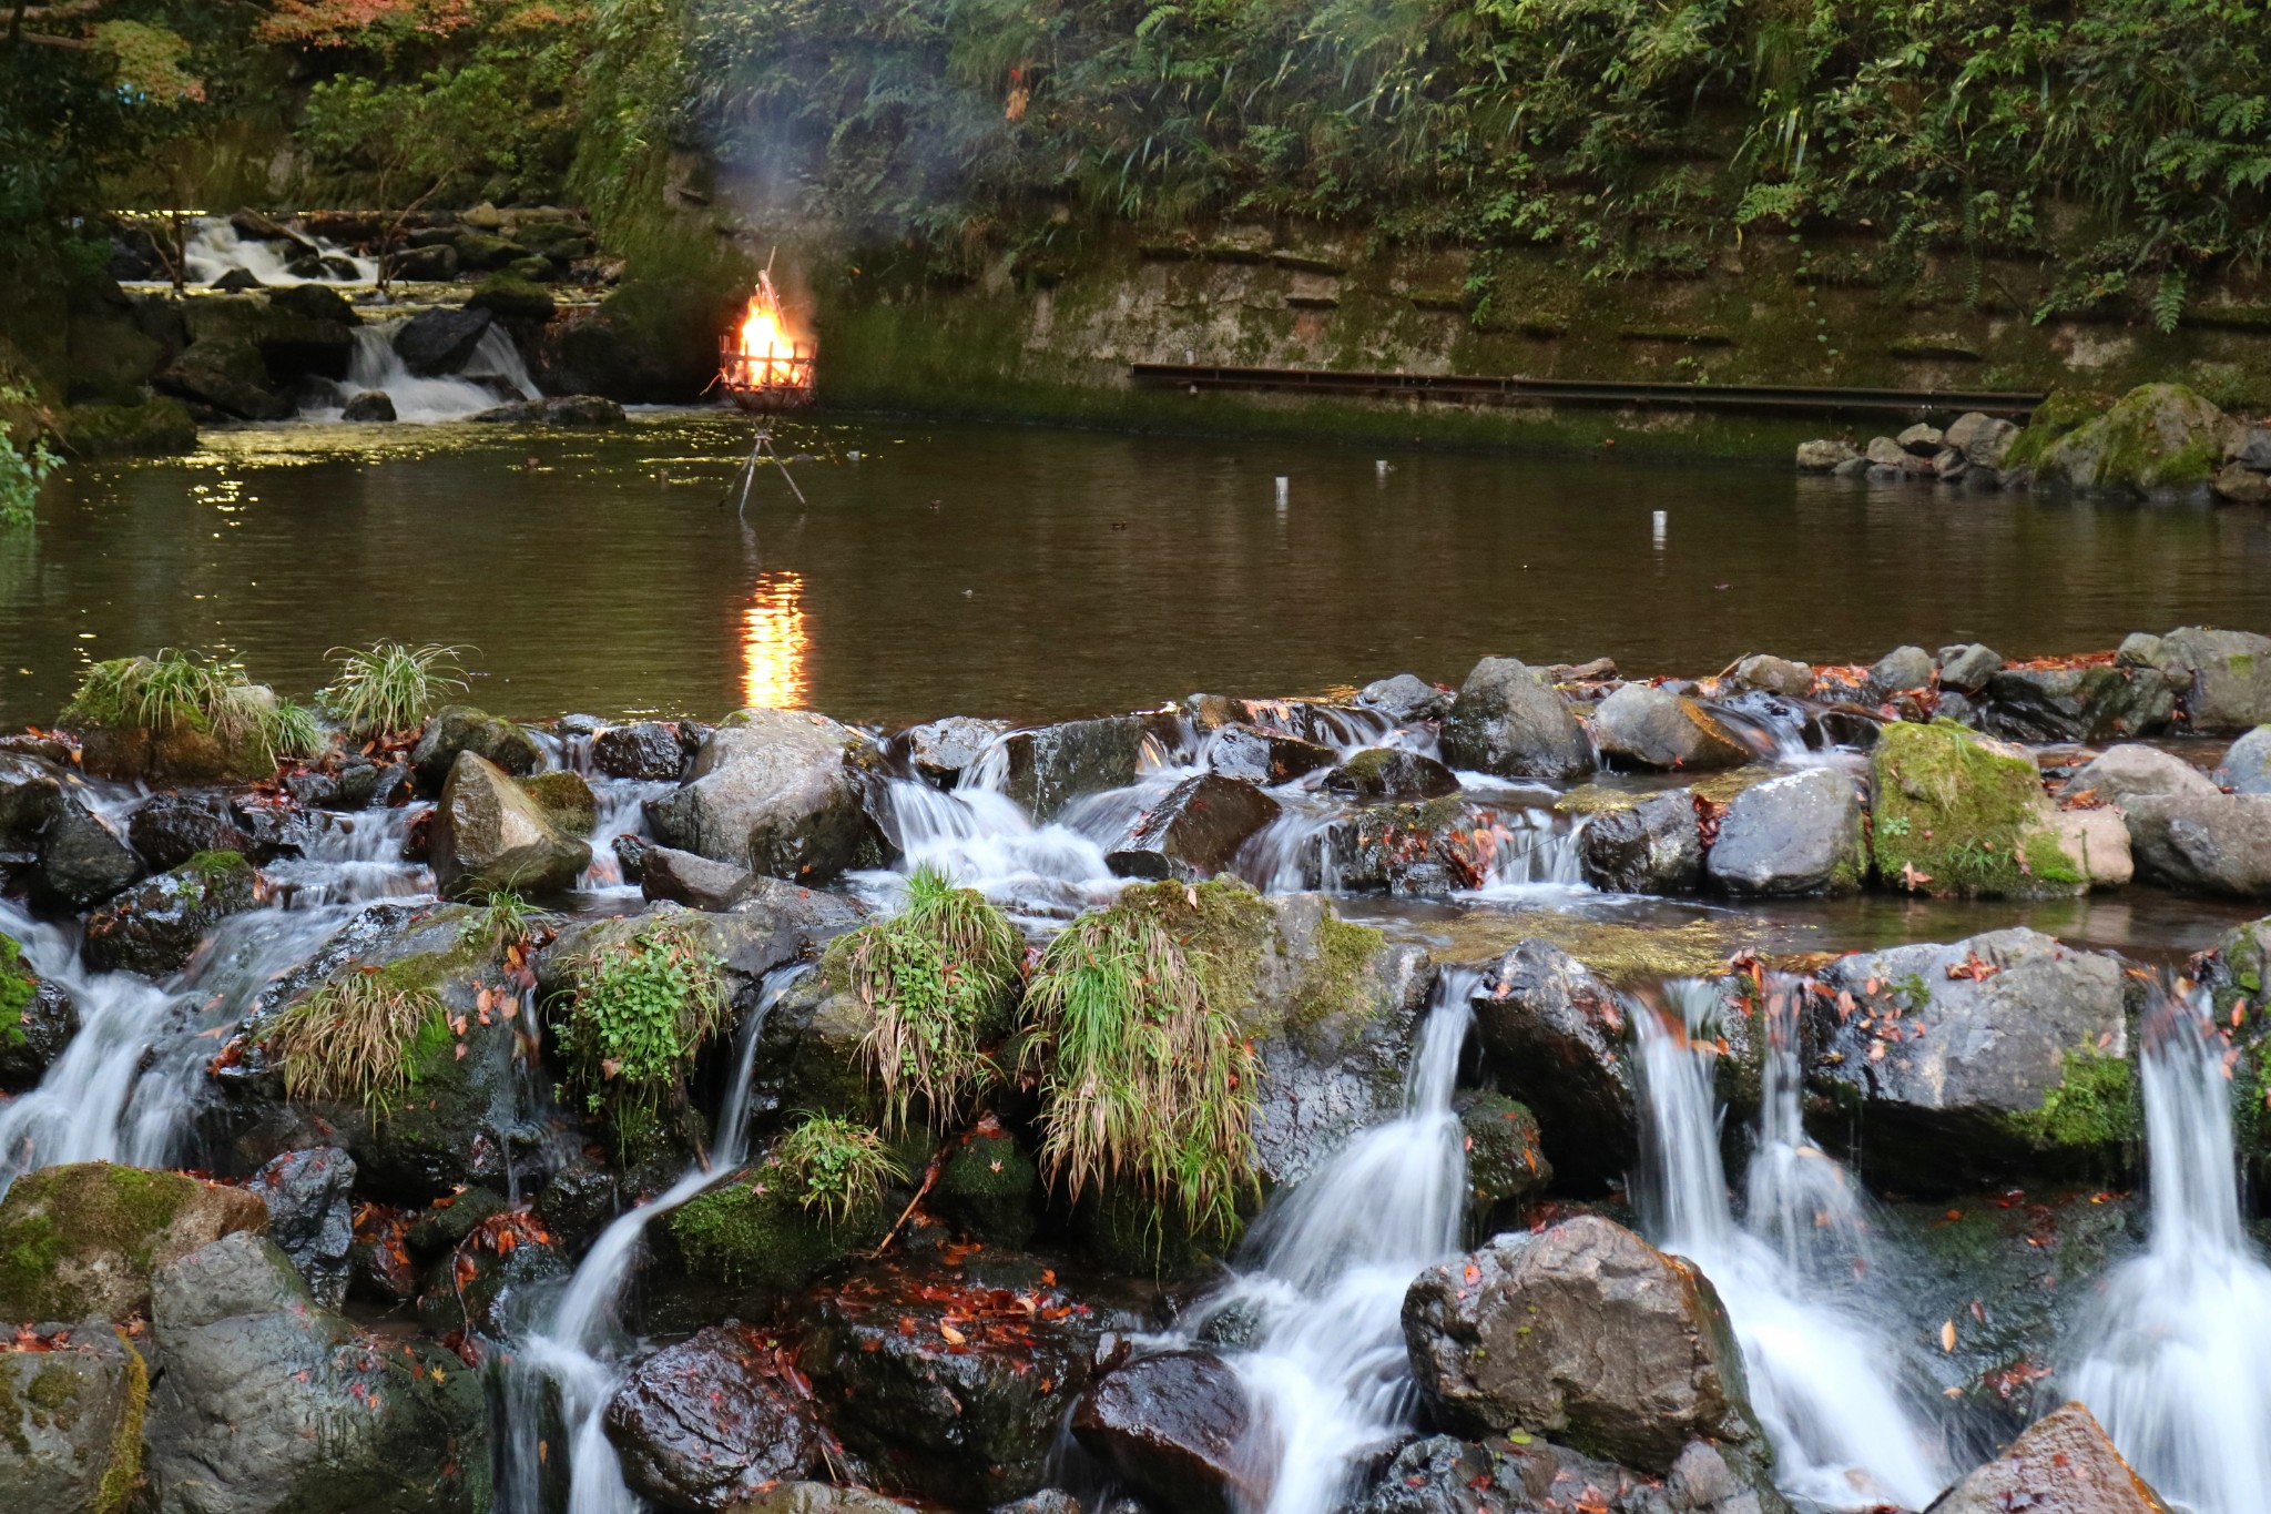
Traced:
<path id="1" fill-rule="evenodd" d="M 1946 1189 L 2089 1171 L 2135 1139 L 2112 956 L 2010 928 L 1846 956 L 1821 985 L 1810 1083 L 1860 1117 L 1871 1178 Z"/>

